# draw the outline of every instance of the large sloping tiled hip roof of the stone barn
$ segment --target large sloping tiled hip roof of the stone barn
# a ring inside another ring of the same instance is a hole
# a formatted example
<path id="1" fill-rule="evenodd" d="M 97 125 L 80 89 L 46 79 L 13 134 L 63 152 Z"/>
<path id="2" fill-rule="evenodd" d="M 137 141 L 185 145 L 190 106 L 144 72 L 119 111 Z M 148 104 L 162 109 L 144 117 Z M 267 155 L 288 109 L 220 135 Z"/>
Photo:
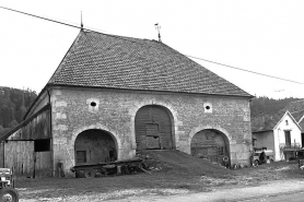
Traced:
<path id="1" fill-rule="evenodd" d="M 163 43 L 86 31 L 48 84 L 253 97 Z"/>

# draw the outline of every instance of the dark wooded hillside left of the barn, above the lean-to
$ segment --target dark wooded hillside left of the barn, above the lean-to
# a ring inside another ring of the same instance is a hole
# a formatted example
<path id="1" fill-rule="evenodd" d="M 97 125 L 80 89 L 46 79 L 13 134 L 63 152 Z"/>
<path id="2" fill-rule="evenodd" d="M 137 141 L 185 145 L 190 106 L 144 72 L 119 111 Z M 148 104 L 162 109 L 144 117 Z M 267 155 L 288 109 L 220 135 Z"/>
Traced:
<path id="1" fill-rule="evenodd" d="M 0 86 L 0 135 L 22 122 L 28 107 L 37 97 L 36 92 Z"/>

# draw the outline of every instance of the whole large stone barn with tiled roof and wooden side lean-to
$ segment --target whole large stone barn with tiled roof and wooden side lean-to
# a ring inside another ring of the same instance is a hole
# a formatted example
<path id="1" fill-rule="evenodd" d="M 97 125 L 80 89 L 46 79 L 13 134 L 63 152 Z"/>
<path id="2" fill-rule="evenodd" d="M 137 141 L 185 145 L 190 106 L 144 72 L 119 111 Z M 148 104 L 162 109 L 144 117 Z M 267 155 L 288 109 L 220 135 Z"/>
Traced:
<path id="1" fill-rule="evenodd" d="M 1 138 L 19 176 L 179 150 L 249 164 L 253 96 L 167 45 L 81 29 L 25 115 Z"/>

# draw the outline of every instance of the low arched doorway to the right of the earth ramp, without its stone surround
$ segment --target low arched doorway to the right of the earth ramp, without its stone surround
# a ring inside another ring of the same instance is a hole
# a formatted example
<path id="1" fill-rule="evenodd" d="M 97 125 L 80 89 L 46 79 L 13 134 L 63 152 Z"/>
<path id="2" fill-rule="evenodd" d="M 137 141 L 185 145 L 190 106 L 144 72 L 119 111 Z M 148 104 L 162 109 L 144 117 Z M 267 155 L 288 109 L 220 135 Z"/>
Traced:
<path id="1" fill-rule="evenodd" d="M 230 157 L 229 140 L 225 134 L 214 129 L 197 132 L 191 140 L 191 155 L 222 163 L 223 157 Z"/>

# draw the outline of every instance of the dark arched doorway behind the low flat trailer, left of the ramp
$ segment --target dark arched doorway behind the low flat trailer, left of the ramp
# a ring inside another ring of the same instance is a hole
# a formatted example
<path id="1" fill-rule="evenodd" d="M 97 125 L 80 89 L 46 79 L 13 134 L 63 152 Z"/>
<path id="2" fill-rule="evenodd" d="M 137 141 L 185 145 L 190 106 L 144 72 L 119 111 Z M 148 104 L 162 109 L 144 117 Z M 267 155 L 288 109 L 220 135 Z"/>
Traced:
<path id="1" fill-rule="evenodd" d="M 91 129 L 81 132 L 74 144 L 75 165 L 98 164 L 117 159 L 117 146 L 106 131 Z"/>

